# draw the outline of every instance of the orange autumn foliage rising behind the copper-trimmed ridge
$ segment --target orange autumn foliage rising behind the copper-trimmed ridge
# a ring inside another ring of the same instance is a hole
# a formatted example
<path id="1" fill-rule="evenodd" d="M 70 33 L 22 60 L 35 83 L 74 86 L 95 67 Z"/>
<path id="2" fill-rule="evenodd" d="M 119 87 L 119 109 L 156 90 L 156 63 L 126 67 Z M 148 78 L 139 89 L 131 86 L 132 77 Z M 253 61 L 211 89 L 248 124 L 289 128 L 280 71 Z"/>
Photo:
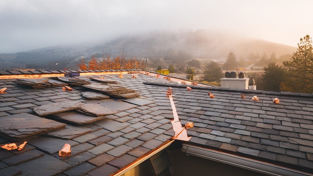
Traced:
<path id="1" fill-rule="evenodd" d="M 86 63 L 84 59 L 77 64 L 80 70 L 121 70 L 121 69 L 143 69 L 146 67 L 144 60 L 136 57 L 127 58 L 124 50 L 111 58 L 110 53 L 105 52 L 102 57 L 92 55 Z M 88 65 L 88 66 L 87 66 Z"/>

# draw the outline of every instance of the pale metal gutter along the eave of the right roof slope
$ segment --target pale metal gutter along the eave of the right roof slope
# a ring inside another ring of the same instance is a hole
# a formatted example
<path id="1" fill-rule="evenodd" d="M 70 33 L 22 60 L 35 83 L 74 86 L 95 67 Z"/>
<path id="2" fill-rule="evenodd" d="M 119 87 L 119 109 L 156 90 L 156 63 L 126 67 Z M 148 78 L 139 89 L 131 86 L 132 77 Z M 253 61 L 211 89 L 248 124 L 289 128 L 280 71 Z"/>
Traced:
<path id="1" fill-rule="evenodd" d="M 194 155 L 273 176 L 313 176 L 310 173 L 184 143 L 182 151 L 186 152 L 187 156 Z"/>

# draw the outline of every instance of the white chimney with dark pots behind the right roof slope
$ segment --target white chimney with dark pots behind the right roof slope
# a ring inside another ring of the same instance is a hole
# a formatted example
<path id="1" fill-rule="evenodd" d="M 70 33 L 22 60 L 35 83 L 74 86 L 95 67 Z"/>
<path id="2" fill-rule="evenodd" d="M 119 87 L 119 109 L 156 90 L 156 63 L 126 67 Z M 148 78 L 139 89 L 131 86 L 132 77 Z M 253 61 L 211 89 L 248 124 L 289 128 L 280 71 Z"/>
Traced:
<path id="1" fill-rule="evenodd" d="M 222 88 L 249 88 L 249 78 L 245 77 L 244 72 L 240 72 L 238 77 L 235 71 L 225 72 L 225 78 L 221 79 Z"/>

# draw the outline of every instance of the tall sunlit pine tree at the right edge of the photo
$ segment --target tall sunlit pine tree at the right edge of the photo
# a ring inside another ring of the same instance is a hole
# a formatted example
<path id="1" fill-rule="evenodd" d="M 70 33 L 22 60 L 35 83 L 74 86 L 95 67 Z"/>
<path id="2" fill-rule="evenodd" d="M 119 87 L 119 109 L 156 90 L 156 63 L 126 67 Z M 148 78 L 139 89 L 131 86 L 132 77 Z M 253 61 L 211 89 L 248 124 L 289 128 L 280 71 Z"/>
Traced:
<path id="1" fill-rule="evenodd" d="M 283 64 L 288 79 L 282 83 L 282 91 L 313 92 L 313 42 L 309 35 L 300 38 L 297 51 L 290 61 L 284 61 Z"/>

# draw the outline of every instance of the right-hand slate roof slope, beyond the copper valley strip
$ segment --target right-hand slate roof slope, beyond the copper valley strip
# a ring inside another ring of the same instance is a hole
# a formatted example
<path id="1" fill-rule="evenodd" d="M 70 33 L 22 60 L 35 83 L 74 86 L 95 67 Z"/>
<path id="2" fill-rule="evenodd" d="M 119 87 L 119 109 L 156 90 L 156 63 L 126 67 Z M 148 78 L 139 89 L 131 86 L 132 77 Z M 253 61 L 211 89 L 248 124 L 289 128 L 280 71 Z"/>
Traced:
<path id="1" fill-rule="evenodd" d="M 181 123 L 194 122 L 189 143 L 313 173 L 312 94 L 162 85 L 173 88 Z"/>

